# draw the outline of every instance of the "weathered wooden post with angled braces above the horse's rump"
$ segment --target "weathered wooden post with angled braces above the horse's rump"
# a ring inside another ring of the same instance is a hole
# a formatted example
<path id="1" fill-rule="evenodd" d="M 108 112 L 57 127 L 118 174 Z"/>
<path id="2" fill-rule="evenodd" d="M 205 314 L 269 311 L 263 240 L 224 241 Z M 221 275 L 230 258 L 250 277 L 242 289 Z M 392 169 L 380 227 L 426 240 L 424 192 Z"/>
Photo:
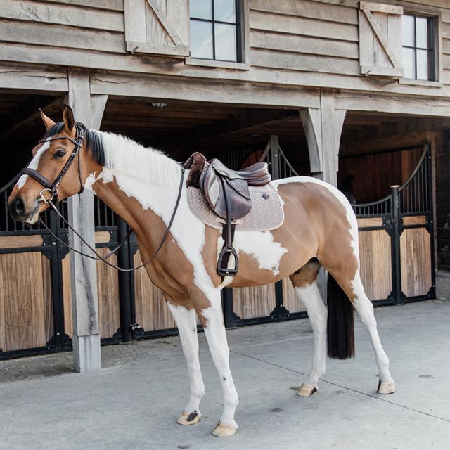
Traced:
<path id="1" fill-rule="evenodd" d="M 300 110 L 314 177 L 338 184 L 339 145 L 345 110 L 335 108 L 333 94 L 321 92 L 320 108 Z"/>

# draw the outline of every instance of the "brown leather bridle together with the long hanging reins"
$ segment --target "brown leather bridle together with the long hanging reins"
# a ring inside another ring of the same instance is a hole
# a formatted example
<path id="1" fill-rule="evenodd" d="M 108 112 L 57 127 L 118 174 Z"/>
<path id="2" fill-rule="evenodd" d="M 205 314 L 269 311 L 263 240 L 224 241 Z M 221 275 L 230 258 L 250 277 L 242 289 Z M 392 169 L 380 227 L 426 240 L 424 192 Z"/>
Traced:
<path id="1" fill-rule="evenodd" d="M 72 250 L 72 252 L 78 253 L 79 255 L 82 255 L 89 259 L 94 259 L 96 261 L 103 261 L 105 264 L 108 264 L 108 266 L 113 267 L 113 269 L 116 269 L 117 271 L 121 271 L 121 272 L 133 272 L 137 269 L 141 269 L 141 267 L 146 266 L 153 258 L 155 258 L 156 255 L 158 255 L 158 253 L 160 252 L 160 250 L 162 248 L 162 245 L 164 245 L 165 240 L 167 239 L 167 236 L 169 236 L 169 231 L 172 228 L 172 224 L 175 219 L 175 214 L 176 214 L 176 211 L 178 210 L 179 203 L 181 200 L 181 191 L 183 190 L 183 180 L 184 180 L 185 169 L 181 168 L 181 178 L 180 178 L 180 184 L 179 184 L 179 189 L 178 189 L 178 196 L 176 198 L 176 203 L 174 206 L 174 210 L 172 212 L 172 216 L 170 217 L 169 224 L 166 226 L 166 230 L 165 230 L 164 235 L 162 236 L 160 245 L 158 245 L 158 248 L 155 250 L 155 252 L 153 252 L 153 255 L 151 255 L 148 259 L 146 259 L 145 262 L 143 262 L 139 266 L 133 267 L 131 269 L 123 269 L 122 267 L 119 267 L 119 266 L 116 266 L 115 264 L 110 263 L 109 261 L 107 261 L 107 259 L 110 258 L 111 256 L 115 255 L 115 253 L 118 250 L 120 250 L 122 245 L 124 245 L 124 243 L 129 238 L 129 236 L 131 236 L 131 233 L 133 232 L 133 230 L 130 229 L 128 231 L 128 233 L 124 236 L 124 238 L 121 240 L 120 244 L 117 245 L 117 247 L 112 252 L 108 253 L 108 255 L 103 257 L 103 256 L 99 255 L 98 252 L 95 250 L 95 248 L 93 248 L 89 243 L 87 243 L 86 240 L 84 240 L 84 238 L 82 238 L 82 236 L 77 232 L 77 230 L 75 230 L 70 225 L 68 220 L 65 219 L 63 214 L 61 214 L 60 211 L 58 210 L 58 208 L 56 207 L 56 203 L 58 203 L 58 201 L 59 201 L 58 200 L 58 186 L 59 186 L 61 180 L 63 179 L 63 177 L 65 176 L 65 174 L 68 172 L 68 169 L 72 165 L 72 162 L 73 162 L 73 160 L 75 160 L 77 155 L 78 155 L 78 177 L 79 177 L 79 185 L 80 185 L 80 190 L 79 190 L 78 194 L 81 194 L 84 191 L 84 184 L 82 182 L 82 176 L 81 176 L 80 153 L 81 153 L 85 133 L 84 133 L 84 126 L 82 124 L 75 124 L 75 127 L 77 130 L 77 135 L 75 136 L 75 139 L 72 139 L 69 136 L 61 136 L 58 138 L 42 139 L 41 141 L 38 142 L 38 143 L 45 143 L 45 142 L 56 141 L 58 139 L 68 139 L 68 141 L 74 143 L 74 145 L 75 145 L 74 149 L 72 150 L 72 153 L 70 153 L 69 159 L 67 160 L 67 162 L 65 162 L 63 169 L 61 169 L 58 176 L 56 177 L 56 179 L 53 182 L 49 181 L 48 179 L 46 179 L 46 177 L 44 175 L 39 174 L 39 172 L 37 172 L 34 169 L 31 169 L 30 167 L 25 167 L 25 169 L 22 170 L 21 174 L 31 176 L 32 179 L 36 180 L 39 184 L 41 184 L 41 186 L 44 186 L 44 189 L 42 189 L 39 192 L 39 196 L 40 196 L 41 200 L 44 203 L 50 205 L 50 207 L 56 213 L 56 215 L 68 226 L 69 229 L 72 230 L 73 233 L 75 233 L 75 235 L 79 238 L 79 240 L 81 240 L 82 243 L 84 243 L 84 245 L 86 245 L 86 247 L 89 248 L 89 250 L 91 250 L 91 252 L 93 252 L 94 255 L 96 255 L 96 256 L 86 255 L 86 253 L 80 252 L 79 250 L 70 247 L 70 245 L 66 244 L 63 240 L 61 240 L 58 236 L 56 236 L 56 234 L 53 233 L 53 231 L 51 231 L 51 229 L 49 229 L 49 226 L 47 226 L 45 224 L 45 222 L 42 220 L 41 217 L 39 217 L 39 221 L 44 226 L 44 228 L 47 231 L 49 231 L 49 233 L 51 234 L 51 236 L 53 236 L 53 238 L 58 240 L 58 242 L 63 244 L 66 248 Z M 45 198 L 44 192 L 51 193 L 51 198 L 49 198 L 49 199 Z"/>

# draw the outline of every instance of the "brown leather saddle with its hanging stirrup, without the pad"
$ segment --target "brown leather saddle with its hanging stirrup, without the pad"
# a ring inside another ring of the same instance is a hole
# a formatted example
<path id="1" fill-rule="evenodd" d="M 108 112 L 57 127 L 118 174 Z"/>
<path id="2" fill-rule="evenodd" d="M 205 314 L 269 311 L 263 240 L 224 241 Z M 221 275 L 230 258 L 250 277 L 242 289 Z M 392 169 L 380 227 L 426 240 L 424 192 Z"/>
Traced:
<path id="1" fill-rule="evenodd" d="M 211 209 L 222 219 L 224 247 L 217 261 L 217 272 L 221 276 L 235 276 L 238 273 L 238 255 L 233 248 L 235 225 L 233 220 L 242 219 L 252 209 L 248 186 L 264 186 L 271 181 L 266 162 L 257 162 L 242 170 L 231 170 L 217 159 L 206 161 L 201 153 L 195 152 L 184 164 L 190 169 L 186 186 L 200 188 Z M 234 256 L 234 268 L 228 267 L 230 255 Z"/>

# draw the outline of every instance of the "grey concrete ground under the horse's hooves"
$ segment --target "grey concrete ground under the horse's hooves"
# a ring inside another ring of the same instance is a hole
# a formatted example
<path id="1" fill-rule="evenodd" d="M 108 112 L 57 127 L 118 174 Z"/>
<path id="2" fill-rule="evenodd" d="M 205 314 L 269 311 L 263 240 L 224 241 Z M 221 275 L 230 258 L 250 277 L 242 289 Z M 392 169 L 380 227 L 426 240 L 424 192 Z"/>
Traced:
<path id="1" fill-rule="evenodd" d="M 200 334 L 206 394 L 198 425 L 175 423 L 188 399 L 178 337 L 103 347 L 102 371 L 70 372 L 70 354 L 0 362 L 0 449 L 450 448 L 450 302 L 375 309 L 397 392 L 375 393 L 377 368 L 356 321 L 356 358 L 328 360 L 319 392 L 295 390 L 311 363 L 309 321 L 229 330 L 240 395 L 236 436 L 210 434 L 220 383 Z"/>

